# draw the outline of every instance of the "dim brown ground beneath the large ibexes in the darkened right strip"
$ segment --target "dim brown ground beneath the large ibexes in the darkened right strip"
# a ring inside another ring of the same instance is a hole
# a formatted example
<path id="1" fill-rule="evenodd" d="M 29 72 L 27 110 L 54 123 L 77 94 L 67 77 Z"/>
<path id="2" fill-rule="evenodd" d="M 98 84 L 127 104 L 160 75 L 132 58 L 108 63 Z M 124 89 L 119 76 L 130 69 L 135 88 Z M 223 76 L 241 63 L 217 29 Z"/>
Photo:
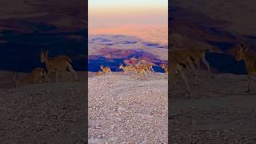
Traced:
<path id="1" fill-rule="evenodd" d="M 184 82 L 170 95 L 171 143 L 256 143 L 256 85 L 246 94 L 246 75 L 199 74 L 185 96 Z M 193 82 L 190 76 L 190 83 Z"/>

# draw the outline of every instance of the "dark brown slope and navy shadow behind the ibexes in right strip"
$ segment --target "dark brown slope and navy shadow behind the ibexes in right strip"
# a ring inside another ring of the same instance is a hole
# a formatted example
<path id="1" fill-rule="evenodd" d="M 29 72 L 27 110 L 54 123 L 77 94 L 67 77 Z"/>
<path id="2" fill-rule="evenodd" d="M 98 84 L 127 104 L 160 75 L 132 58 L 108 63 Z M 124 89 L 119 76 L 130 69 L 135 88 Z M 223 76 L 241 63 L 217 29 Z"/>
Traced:
<path id="1" fill-rule="evenodd" d="M 216 46 L 224 54 L 206 54 L 206 59 L 218 73 L 246 74 L 242 63 L 234 59 L 234 51 L 238 49 L 237 42 L 241 38 L 251 43 L 250 50 L 256 50 L 256 21 L 250 21 L 254 17 L 252 11 L 256 10 L 253 1 L 217 0 L 208 3 L 203 0 L 172 0 L 171 3 L 169 30 L 171 34 L 181 34 L 188 38 L 181 43 L 182 47 L 194 47 L 191 42 L 193 40 Z"/>

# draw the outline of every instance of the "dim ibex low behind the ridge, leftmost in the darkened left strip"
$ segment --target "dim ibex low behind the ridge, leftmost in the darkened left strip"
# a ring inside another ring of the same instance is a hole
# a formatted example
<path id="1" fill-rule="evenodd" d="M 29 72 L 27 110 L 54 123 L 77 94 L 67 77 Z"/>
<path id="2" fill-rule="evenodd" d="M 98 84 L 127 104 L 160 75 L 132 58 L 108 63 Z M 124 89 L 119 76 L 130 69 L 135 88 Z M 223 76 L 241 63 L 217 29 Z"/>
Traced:
<path id="1" fill-rule="evenodd" d="M 31 71 L 22 81 L 17 79 L 17 75 L 13 74 L 14 86 L 25 86 L 30 84 L 40 84 L 47 82 L 49 79 L 46 74 L 46 70 L 41 67 L 37 67 Z"/>

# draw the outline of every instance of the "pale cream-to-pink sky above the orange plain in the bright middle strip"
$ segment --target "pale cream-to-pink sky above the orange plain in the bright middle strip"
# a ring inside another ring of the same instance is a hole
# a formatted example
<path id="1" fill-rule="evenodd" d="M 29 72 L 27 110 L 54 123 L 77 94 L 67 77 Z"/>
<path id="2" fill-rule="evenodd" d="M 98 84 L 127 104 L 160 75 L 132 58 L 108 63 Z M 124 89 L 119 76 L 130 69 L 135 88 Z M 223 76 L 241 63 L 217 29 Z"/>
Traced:
<path id="1" fill-rule="evenodd" d="M 168 0 L 89 0 L 89 26 L 162 25 Z"/>

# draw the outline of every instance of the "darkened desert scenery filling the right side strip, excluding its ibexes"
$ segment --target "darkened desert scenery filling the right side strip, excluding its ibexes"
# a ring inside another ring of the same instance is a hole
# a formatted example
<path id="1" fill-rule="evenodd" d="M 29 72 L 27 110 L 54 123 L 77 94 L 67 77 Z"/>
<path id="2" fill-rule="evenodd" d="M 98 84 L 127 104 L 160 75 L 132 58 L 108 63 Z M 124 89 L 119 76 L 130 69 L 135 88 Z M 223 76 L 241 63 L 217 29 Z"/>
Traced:
<path id="1" fill-rule="evenodd" d="M 211 73 L 206 66 L 194 76 L 186 70 L 190 98 L 180 80 L 169 96 L 170 143 L 255 143 L 255 78 L 246 93 L 248 76 L 238 50 L 255 52 L 254 2 L 237 0 L 171 1 L 169 34 L 180 34 L 170 42 L 178 49 L 206 49 Z M 243 49 L 243 42 L 245 47 Z M 242 43 L 242 44 L 241 44 Z M 171 62 L 170 62 L 171 63 Z"/>

